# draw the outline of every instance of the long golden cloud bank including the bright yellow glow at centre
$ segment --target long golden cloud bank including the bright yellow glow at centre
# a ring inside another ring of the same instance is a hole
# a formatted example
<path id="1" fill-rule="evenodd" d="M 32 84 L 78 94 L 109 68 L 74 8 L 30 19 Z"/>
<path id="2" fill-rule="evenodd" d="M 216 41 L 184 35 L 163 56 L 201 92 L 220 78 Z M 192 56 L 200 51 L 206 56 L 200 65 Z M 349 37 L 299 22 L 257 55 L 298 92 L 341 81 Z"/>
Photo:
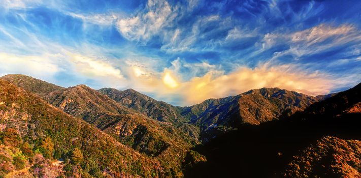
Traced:
<path id="1" fill-rule="evenodd" d="M 189 68 L 189 69 L 187 69 Z M 140 71 L 137 71 L 137 70 Z M 138 68 L 132 80 L 133 87 L 140 92 L 151 93 L 155 98 L 166 98 L 177 104 L 192 105 L 209 98 L 238 95 L 261 87 L 280 87 L 308 95 L 328 94 L 336 86 L 345 84 L 332 75 L 310 73 L 293 65 L 271 65 L 265 63 L 256 68 L 238 67 L 230 73 L 206 62 L 189 64 L 179 58 L 162 72 L 150 74 Z M 187 74 L 186 71 L 202 71 Z M 186 77 L 188 75 L 198 75 Z M 346 82 L 347 83 L 347 82 Z"/>

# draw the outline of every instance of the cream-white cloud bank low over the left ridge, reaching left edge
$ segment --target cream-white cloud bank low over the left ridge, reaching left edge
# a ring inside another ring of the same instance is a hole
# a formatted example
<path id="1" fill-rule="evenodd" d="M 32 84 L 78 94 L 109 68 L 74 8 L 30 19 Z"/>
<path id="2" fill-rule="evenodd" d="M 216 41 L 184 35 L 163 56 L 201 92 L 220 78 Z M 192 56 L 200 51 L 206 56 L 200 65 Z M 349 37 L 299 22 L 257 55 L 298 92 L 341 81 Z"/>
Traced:
<path id="1" fill-rule="evenodd" d="M 55 83 L 62 83 L 57 81 L 56 77 L 65 75 L 75 77 L 73 80 L 77 80 L 76 84 L 88 82 L 96 87 L 128 85 L 120 69 L 106 59 L 88 57 L 66 49 L 59 49 L 58 53 L 40 55 L 3 52 L 0 53 L 0 71 L 0 75 L 25 74 Z"/>

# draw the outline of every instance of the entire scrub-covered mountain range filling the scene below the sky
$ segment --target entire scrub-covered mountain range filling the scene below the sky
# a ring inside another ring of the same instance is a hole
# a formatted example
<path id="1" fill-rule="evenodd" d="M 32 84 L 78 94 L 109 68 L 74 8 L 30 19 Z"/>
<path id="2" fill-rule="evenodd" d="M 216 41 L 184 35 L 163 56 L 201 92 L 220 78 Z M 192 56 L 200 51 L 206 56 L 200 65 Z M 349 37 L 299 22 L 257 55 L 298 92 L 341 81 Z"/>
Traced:
<path id="1" fill-rule="evenodd" d="M 359 176 L 359 92 L 260 88 L 180 107 L 133 89 L 6 75 L 0 175 Z"/>

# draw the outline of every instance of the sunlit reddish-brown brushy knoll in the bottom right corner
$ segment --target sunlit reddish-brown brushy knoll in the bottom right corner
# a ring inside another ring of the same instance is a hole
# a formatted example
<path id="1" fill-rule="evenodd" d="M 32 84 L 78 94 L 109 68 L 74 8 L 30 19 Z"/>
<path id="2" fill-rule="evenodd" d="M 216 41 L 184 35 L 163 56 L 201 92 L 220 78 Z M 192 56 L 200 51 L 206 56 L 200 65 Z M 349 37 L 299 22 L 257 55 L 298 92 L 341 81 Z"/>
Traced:
<path id="1" fill-rule="evenodd" d="M 322 137 L 294 156 L 285 177 L 359 177 L 361 141 Z"/>

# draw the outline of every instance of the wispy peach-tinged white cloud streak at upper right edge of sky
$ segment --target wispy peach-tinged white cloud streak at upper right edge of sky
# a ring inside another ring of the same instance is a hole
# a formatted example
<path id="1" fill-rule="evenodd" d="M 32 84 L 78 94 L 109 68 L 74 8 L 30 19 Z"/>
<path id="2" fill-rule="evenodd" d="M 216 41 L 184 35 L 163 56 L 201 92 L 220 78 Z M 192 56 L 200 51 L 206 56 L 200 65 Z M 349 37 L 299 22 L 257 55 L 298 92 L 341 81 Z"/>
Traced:
<path id="1" fill-rule="evenodd" d="M 359 41 L 361 41 L 361 33 L 353 25 L 332 26 L 320 24 L 290 34 L 268 33 L 262 40 L 260 51 L 270 49 L 274 45 L 289 45 L 289 49 L 282 53 L 291 54 L 298 58 L 306 54 L 319 53 L 349 42 Z"/>

